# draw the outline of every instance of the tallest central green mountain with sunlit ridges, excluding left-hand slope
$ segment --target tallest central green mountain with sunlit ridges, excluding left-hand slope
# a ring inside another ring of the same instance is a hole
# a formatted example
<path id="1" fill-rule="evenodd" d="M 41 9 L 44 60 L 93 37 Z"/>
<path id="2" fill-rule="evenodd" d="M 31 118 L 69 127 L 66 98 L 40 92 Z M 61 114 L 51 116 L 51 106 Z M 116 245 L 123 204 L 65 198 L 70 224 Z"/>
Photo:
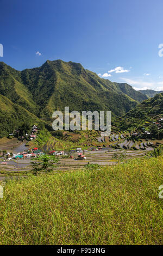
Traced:
<path id="1" fill-rule="evenodd" d="M 64 111 L 65 106 L 80 112 L 110 110 L 114 117 L 137 104 L 114 83 L 78 63 L 47 60 L 40 68 L 23 70 L 21 80 L 40 106 L 40 118 L 52 117 L 53 111 Z"/>

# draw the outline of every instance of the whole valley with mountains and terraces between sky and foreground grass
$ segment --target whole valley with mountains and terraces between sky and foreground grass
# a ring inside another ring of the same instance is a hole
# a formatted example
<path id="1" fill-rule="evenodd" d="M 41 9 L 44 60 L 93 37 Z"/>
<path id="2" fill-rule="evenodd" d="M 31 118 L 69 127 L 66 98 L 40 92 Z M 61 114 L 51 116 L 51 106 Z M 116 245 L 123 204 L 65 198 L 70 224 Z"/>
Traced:
<path id="1" fill-rule="evenodd" d="M 57 172 L 148 156 L 163 144 L 162 102 L 162 92 L 138 92 L 127 83 L 100 78 L 79 63 L 47 60 L 39 68 L 17 71 L 1 62 L 1 179 L 32 173 L 33 157 L 40 156 L 29 153 L 33 148 L 44 155 L 64 151 L 54 166 Z M 65 106 L 79 113 L 111 111 L 111 135 L 95 130 L 53 131 L 52 113 L 64 111 Z M 76 160 L 77 148 L 85 151 L 85 160 Z M 23 158 L 15 158 L 16 154 Z"/>

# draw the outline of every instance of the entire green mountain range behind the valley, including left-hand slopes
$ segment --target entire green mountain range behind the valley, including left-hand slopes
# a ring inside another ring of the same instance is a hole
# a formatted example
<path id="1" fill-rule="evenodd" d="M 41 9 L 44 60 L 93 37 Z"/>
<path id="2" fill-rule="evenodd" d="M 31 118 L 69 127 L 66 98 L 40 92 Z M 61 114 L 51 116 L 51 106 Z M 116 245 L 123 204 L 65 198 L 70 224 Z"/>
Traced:
<path id="1" fill-rule="evenodd" d="M 79 63 L 62 60 L 47 60 L 39 68 L 23 71 L 0 62 L 0 95 L 5 97 L 9 109 L 12 102 L 14 109 L 21 107 L 19 113 L 28 111 L 28 117 L 31 113 L 49 123 L 52 123 L 52 113 L 64 111 L 65 106 L 79 112 L 111 111 L 114 119 L 147 99 L 129 84 L 113 83 L 85 70 Z M 5 115 L 7 117 L 8 112 Z M 17 122 L 18 117 L 22 122 L 21 114 L 14 116 Z"/>

